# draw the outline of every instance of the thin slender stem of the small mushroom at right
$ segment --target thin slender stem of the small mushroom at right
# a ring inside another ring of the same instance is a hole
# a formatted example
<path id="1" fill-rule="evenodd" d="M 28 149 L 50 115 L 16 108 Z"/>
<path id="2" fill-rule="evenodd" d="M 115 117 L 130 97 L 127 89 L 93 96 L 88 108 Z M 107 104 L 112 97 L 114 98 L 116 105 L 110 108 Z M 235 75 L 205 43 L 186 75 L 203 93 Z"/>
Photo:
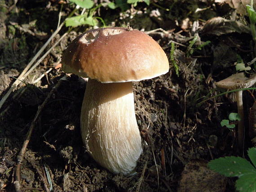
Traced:
<path id="1" fill-rule="evenodd" d="M 243 91 L 238 91 L 235 93 L 238 115 L 241 121 L 238 122 L 238 147 L 243 149 L 243 139 L 244 139 L 244 124 L 243 124 Z"/>

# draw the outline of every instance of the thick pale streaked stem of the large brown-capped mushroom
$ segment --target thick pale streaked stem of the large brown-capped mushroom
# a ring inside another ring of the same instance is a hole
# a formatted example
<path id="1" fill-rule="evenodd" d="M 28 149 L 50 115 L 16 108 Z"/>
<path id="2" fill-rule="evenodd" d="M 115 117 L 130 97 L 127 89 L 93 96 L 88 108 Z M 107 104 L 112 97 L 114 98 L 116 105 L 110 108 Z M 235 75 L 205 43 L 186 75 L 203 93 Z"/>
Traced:
<path id="1" fill-rule="evenodd" d="M 95 161 L 113 173 L 135 172 L 142 148 L 132 82 L 89 79 L 80 121 L 84 144 Z"/>

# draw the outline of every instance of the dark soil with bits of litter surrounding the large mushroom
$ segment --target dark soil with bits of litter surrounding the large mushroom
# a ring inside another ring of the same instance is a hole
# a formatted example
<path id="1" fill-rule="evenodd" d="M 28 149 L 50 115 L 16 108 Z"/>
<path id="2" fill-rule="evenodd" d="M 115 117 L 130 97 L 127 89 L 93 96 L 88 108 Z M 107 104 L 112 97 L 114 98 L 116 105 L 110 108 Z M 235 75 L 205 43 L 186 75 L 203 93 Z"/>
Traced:
<path id="1" fill-rule="evenodd" d="M 0 0 L 3 5 L 0 5 L 0 98 L 56 30 L 61 3 L 62 0 L 19 0 L 16 4 L 14 0 Z M 43 181 L 49 187 L 46 169 L 53 191 L 234 191 L 235 179 L 215 175 L 206 165 L 212 158 L 241 154 L 237 151 L 235 130 L 220 125 L 229 113 L 237 112 L 236 104 L 228 96 L 198 103 L 205 97 L 223 92 L 216 89 L 214 82 L 236 73 L 234 62 L 238 60 L 238 55 L 244 63 L 253 59 L 252 37 L 245 31 L 225 31 L 221 35 L 202 31 L 208 19 L 216 16 L 229 19 L 234 14 L 235 10 L 228 4 L 221 5 L 210 0 L 154 1 L 154 4 L 147 6 L 139 3 L 124 13 L 120 12 L 120 8 L 102 6 L 94 13 L 94 16 L 102 17 L 107 26 L 127 26 L 129 22 L 138 30 L 162 28 L 164 31 L 151 31 L 149 35 L 162 46 L 170 61 L 171 42 L 176 45 L 175 61 L 179 75 L 170 62 L 169 73 L 134 82 L 136 117 L 143 140 L 137 175 L 114 175 L 85 153 L 79 115 L 86 81 L 73 74 L 63 78 L 66 74 L 56 67 L 71 40 L 92 28 L 85 25 L 73 29 L 24 80 L 26 84 L 21 83 L 15 89 L 1 108 L 0 191 L 15 191 L 13 181 L 17 155 L 39 106 L 51 90 L 53 92 L 36 121 L 22 161 L 22 191 L 44 191 Z M 62 17 L 66 17 L 73 8 L 74 4 L 63 4 Z M 195 12 L 197 8 L 205 10 Z M 245 19 L 246 22 L 247 17 L 237 16 L 236 19 Z M 64 27 L 60 35 L 67 30 Z M 198 39 L 192 48 L 207 40 L 211 43 L 189 54 L 187 49 L 195 35 Z M 48 48 L 59 37 L 57 35 Z M 251 67 L 248 73 L 253 74 L 254 66 Z M 38 83 L 32 84 L 50 68 L 53 70 Z M 245 114 L 254 102 L 253 94 L 244 92 Z M 248 124 L 248 120 L 245 121 Z M 249 139 L 245 143 L 245 148 L 248 147 Z M 194 170 L 198 171 L 194 173 Z M 200 177 L 202 183 L 199 182 L 199 186 L 217 180 L 214 184 L 217 187 L 185 188 L 183 180 L 190 174 L 190 178 Z"/>

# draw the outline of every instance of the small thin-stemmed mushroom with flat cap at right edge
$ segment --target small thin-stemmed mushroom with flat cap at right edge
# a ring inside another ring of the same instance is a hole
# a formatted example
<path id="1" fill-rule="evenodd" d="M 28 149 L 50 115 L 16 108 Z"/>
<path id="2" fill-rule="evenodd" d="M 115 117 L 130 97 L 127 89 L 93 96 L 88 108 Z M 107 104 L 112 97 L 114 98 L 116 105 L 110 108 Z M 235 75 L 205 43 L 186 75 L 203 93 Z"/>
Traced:
<path id="1" fill-rule="evenodd" d="M 252 75 L 250 78 L 244 76 L 243 73 L 233 74 L 230 77 L 216 82 L 217 87 L 225 89 L 242 89 L 252 87 L 256 83 L 256 74 Z M 243 91 L 235 92 L 235 100 L 237 102 L 238 115 L 241 121 L 238 122 L 238 147 L 243 149 L 244 140 L 244 117 L 243 117 Z"/>

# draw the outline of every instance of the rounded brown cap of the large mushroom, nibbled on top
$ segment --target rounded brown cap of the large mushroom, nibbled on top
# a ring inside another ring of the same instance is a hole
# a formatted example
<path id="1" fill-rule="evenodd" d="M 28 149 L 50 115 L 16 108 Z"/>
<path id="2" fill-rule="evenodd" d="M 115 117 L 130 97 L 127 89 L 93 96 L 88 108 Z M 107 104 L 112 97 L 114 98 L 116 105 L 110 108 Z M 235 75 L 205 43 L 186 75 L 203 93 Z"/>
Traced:
<path id="1" fill-rule="evenodd" d="M 163 49 L 128 28 L 99 28 L 79 35 L 62 57 L 62 69 L 102 83 L 152 79 L 169 70 Z"/>

